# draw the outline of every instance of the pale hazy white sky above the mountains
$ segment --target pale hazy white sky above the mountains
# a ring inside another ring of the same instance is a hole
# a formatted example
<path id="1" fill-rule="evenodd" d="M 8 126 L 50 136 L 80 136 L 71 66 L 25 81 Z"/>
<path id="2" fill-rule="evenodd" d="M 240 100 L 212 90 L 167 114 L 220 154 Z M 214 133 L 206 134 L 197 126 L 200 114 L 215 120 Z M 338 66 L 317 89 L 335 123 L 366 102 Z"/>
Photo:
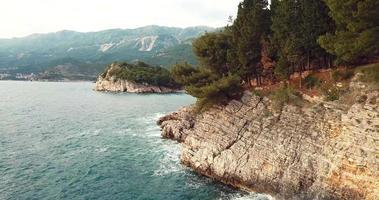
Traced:
<path id="1" fill-rule="evenodd" d="M 0 38 L 59 30 L 227 24 L 241 0 L 0 0 Z"/>

